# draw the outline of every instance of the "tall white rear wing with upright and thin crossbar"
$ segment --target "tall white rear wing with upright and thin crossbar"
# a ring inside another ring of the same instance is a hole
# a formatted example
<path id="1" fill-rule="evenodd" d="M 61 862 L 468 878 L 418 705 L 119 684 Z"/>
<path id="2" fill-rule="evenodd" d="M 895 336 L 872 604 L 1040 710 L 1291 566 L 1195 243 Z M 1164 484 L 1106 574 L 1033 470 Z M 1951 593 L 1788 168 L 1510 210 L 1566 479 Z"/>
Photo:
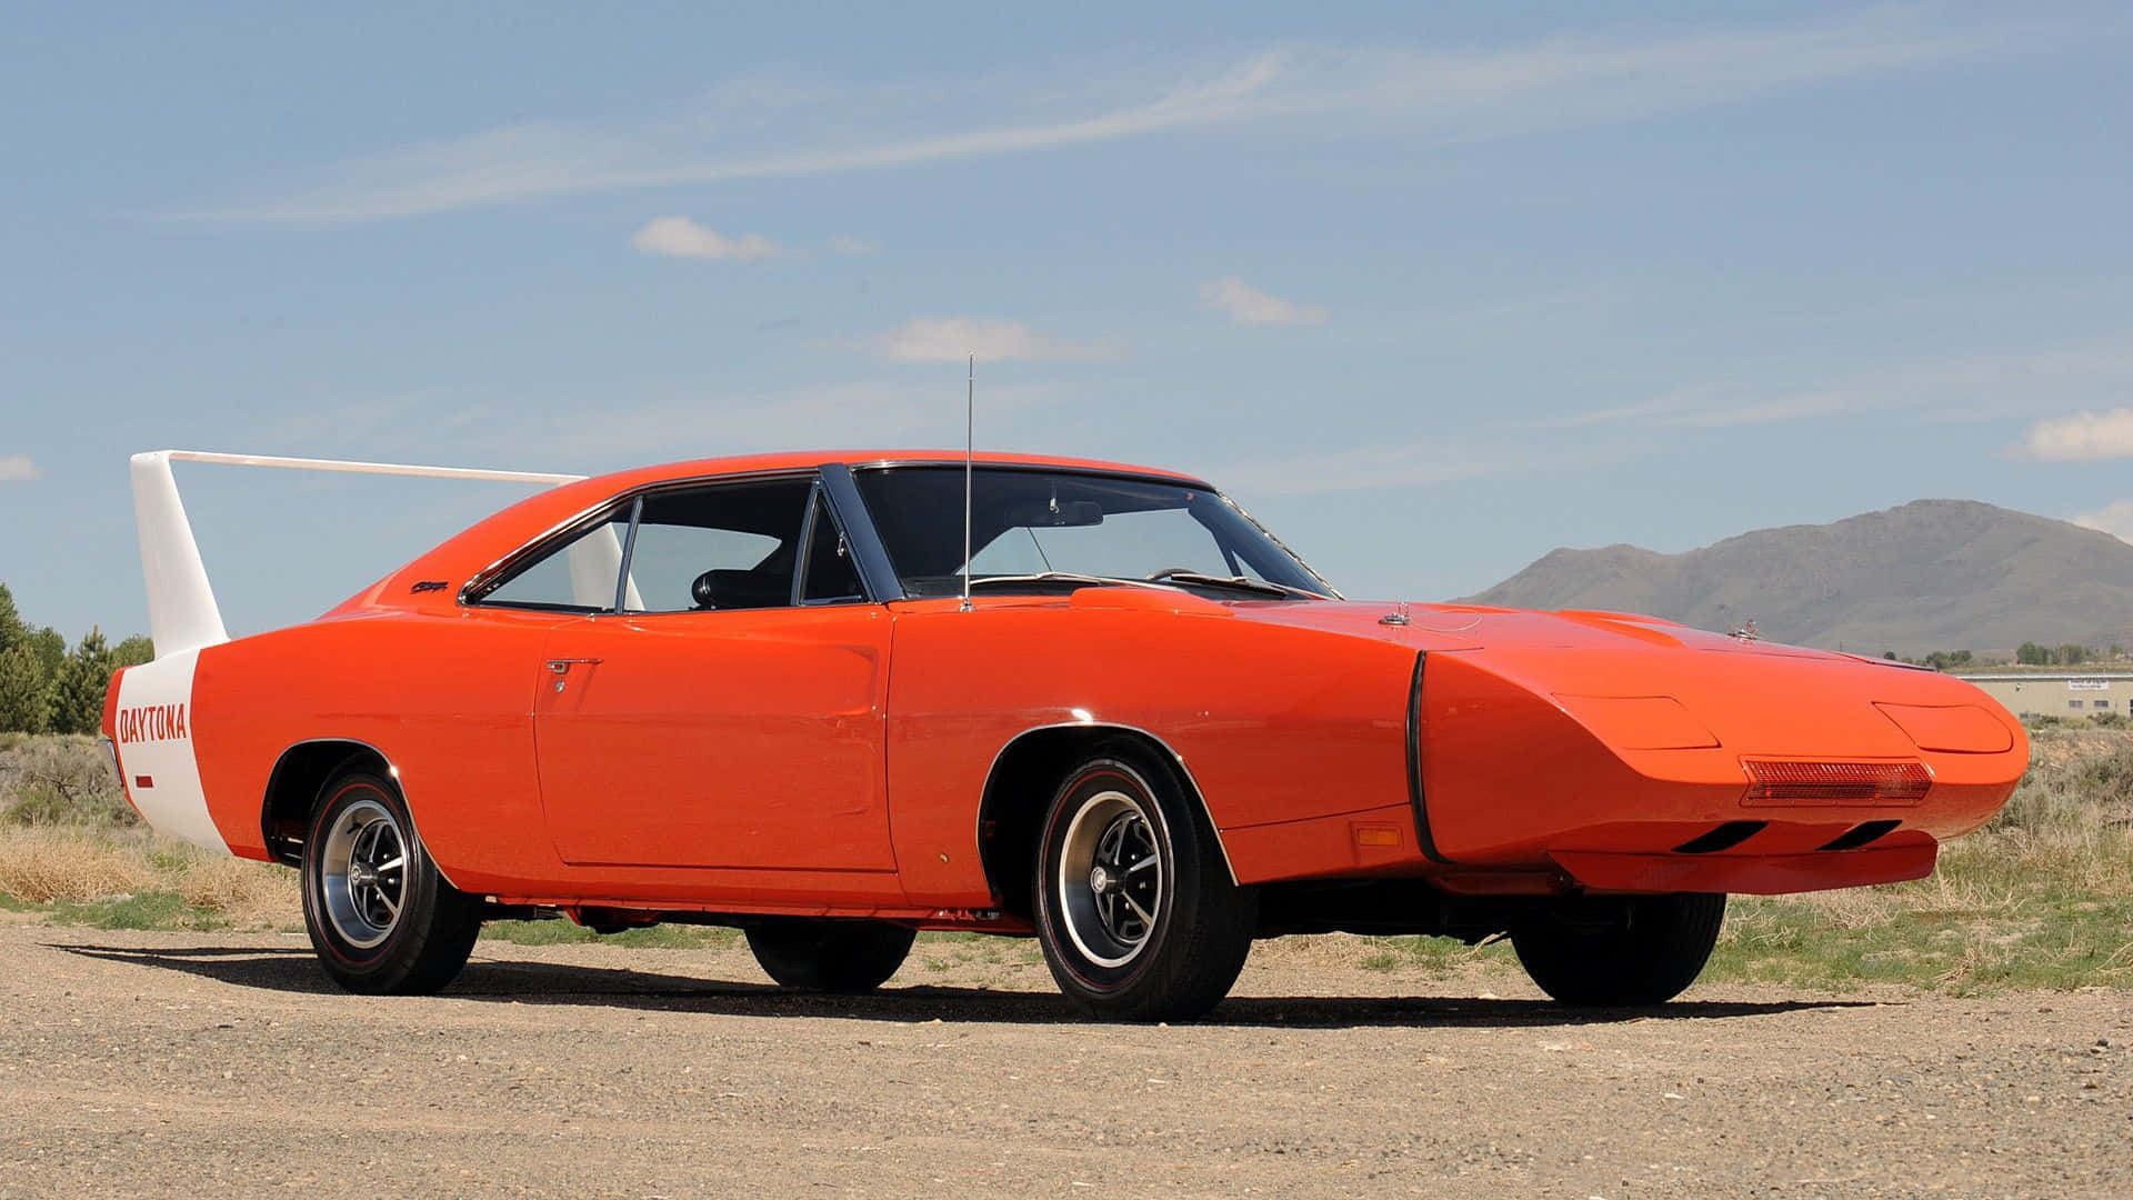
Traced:
<path id="1" fill-rule="evenodd" d="M 177 495 L 177 478 L 171 476 L 171 463 L 471 478 L 488 483 L 559 485 L 584 478 L 582 474 L 215 455 L 207 451 L 145 451 L 134 455 L 134 525 L 141 532 L 141 581 L 147 585 L 147 630 L 156 641 L 156 658 L 230 641 L 228 630 L 222 626 L 222 609 L 215 604 L 215 589 L 207 583 L 201 544 L 192 538 L 192 521 L 186 519 L 186 502 Z"/>

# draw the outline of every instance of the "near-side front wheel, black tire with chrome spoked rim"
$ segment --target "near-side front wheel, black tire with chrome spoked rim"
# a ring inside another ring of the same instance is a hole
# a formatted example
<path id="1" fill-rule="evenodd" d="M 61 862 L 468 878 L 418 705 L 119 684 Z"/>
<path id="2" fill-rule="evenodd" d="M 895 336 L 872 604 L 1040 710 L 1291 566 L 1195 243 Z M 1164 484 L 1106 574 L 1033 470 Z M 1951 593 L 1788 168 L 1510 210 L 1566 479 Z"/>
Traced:
<path id="1" fill-rule="evenodd" d="M 1201 1016 L 1237 982 L 1258 927 L 1258 893 L 1231 882 L 1199 803 L 1130 743 L 1060 784 L 1035 890 L 1052 978 L 1107 1021 Z"/>

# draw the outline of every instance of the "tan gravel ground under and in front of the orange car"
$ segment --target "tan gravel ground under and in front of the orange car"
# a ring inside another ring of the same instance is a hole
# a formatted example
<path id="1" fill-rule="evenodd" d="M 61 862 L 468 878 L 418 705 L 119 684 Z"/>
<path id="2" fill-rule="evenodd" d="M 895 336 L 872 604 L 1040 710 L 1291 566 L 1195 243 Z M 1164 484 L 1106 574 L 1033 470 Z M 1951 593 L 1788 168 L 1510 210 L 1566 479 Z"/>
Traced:
<path id="1" fill-rule="evenodd" d="M 0 1196 L 2133 1194 L 2127 993 L 1578 1019 L 1354 959 L 1263 944 L 1212 1021 L 1107 1027 L 1020 963 L 830 999 L 484 942 L 360 999 L 301 937 L 0 922 Z"/>

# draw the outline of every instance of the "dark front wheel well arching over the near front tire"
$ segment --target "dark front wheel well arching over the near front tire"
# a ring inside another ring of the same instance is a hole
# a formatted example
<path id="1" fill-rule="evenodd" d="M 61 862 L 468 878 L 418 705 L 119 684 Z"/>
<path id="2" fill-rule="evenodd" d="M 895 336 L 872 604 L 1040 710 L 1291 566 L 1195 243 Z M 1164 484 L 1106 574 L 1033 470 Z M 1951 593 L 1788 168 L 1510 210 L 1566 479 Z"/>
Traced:
<path id="1" fill-rule="evenodd" d="M 1171 775 L 1186 801 L 1199 805 L 1214 828 L 1207 799 L 1199 794 L 1177 754 L 1150 732 L 1122 726 L 1054 726 L 1017 735 L 1000 749 L 985 777 L 985 796 L 977 809 L 977 850 L 985 867 L 985 884 L 1000 912 L 1032 916 L 1030 888 L 1037 875 L 1037 833 L 1045 820 L 1052 794 L 1066 773 L 1105 745 L 1130 745 Z M 1216 833 L 1216 843 L 1222 835 Z M 1229 869 L 1226 852 L 1222 869 Z M 1235 878 L 1235 873 L 1231 873 Z"/>

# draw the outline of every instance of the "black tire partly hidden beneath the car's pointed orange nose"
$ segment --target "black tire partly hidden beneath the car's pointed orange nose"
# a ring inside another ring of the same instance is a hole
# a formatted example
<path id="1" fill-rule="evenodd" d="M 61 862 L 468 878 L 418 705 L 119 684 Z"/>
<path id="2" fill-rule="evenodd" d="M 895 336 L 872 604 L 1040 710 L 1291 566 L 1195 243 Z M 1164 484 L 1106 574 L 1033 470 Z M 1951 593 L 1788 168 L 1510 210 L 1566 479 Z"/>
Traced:
<path id="1" fill-rule="evenodd" d="M 1666 1004 L 1696 982 L 1723 920 L 1723 895 L 1595 899 L 1521 925 L 1510 946 L 1540 991 L 1561 1004 Z"/>

